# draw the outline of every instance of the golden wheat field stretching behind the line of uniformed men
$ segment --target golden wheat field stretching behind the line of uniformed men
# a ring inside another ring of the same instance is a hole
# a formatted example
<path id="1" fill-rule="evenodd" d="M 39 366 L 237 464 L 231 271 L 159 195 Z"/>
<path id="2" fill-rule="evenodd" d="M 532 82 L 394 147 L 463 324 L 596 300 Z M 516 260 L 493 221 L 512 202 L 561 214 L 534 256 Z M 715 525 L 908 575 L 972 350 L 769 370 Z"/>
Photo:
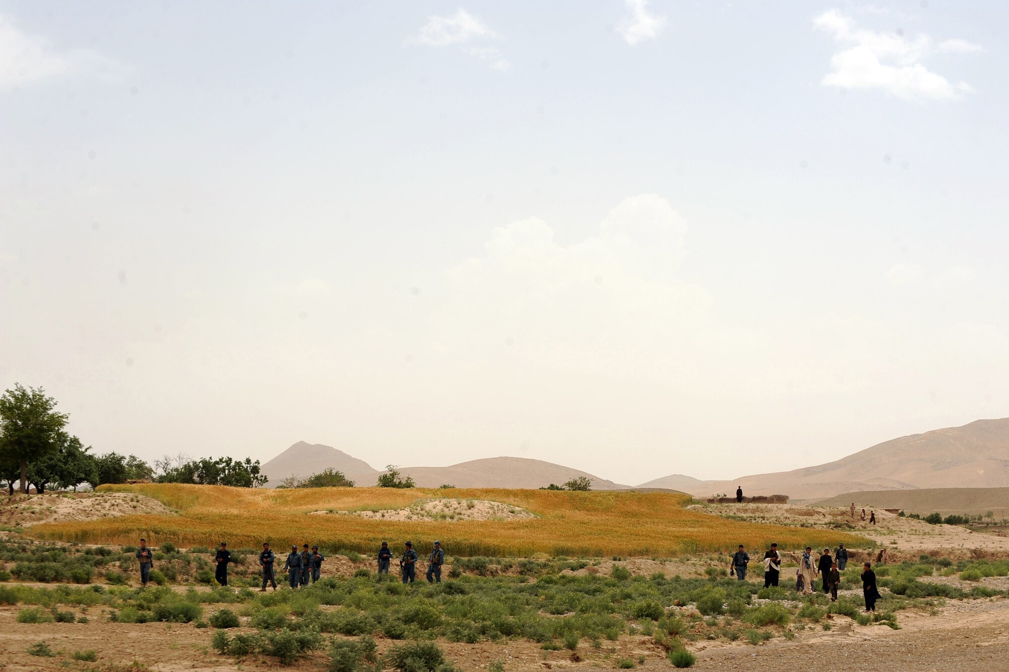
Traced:
<path id="1" fill-rule="evenodd" d="M 97 521 L 35 525 L 32 536 L 89 544 L 152 545 L 171 541 L 183 548 L 254 548 L 267 541 L 283 550 L 292 543 L 317 543 L 330 550 L 372 552 L 380 541 L 411 539 L 426 551 L 440 539 L 450 555 L 676 556 L 685 553 L 765 548 L 814 548 L 844 542 L 870 544 L 850 534 L 743 523 L 684 507 L 689 497 L 670 492 L 551 491 L 510 489 L 377 487 L 249 489 L 211 485 L 105 485 L 104 491 L 136 492 L 179 512 L 178 516 L 122 516 Z M 403 509 L 426 498 L 492 500 L 525 509 L 535 518 L 510 521 L 385 521 L 320 511 Z"/>

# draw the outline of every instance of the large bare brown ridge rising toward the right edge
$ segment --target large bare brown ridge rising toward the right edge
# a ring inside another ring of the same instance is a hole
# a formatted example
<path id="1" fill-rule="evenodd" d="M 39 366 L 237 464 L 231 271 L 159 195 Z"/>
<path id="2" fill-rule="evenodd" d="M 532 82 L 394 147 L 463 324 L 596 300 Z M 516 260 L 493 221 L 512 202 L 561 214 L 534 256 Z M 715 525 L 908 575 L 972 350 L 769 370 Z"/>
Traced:
<path id="1" fill-rule="evenodd" d="M 831 497 L 845 492 L 926 487 L 1009 486 L 1009 418 L 912 434 L 839 460 L 792 471 L 689 482 L 674 474 L 641 487 L 673 487 L 694 495 L 735 492 Z"/>

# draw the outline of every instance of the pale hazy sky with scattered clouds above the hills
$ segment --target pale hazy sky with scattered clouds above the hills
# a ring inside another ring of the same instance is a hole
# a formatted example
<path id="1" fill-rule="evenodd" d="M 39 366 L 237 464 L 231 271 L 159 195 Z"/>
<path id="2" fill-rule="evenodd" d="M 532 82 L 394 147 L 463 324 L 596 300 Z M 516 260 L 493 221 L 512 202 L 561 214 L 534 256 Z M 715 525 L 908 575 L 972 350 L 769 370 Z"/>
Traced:
<path id="1" fill-rule="evenodd" d="M 1009 415 L 1009 4 L 0 1 L 0 386 L 98 452 L 733 477 Z"/>

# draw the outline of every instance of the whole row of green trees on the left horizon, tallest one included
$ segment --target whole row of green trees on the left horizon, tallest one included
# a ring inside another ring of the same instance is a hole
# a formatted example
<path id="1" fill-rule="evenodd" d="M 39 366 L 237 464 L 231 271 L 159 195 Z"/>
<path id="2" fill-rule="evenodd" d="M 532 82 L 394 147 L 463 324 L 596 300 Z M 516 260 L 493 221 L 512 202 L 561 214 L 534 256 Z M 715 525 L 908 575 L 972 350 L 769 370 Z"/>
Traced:
<path id="1" fill-rule="evenodd" d="M 81 483 L 97 487 L 131 480 L 235 487 L 258 487 L 267 480 L 259 472 L 259 460 L 247 457 L 194 459 L 181 454 L 154 460 L 151 466 L 135 455 L 96 455 L 67 431 L 69 418 L 42 387 L 15 383 L 0 396 L 0 482 L 9 494 L 15 487 L 23 493 L 29 486 L 44 492 L 52 486 L 77 489 Z"/>

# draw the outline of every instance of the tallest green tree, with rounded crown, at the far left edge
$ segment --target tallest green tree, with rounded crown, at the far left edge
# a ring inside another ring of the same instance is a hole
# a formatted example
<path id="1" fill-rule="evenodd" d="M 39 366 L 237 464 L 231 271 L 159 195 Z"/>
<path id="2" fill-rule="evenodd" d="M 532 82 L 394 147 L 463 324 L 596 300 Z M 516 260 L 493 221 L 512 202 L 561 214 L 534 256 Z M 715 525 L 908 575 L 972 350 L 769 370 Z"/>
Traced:
<path id="1" fill-rule="evenodd" d="M 23 493 L 28 491 L 28 462 L 59 449 L 68 416 L 55 407 L 55 400 L 41 387 L 20 383 L 0 397 L 0 455 L 17 460 Z"/>

